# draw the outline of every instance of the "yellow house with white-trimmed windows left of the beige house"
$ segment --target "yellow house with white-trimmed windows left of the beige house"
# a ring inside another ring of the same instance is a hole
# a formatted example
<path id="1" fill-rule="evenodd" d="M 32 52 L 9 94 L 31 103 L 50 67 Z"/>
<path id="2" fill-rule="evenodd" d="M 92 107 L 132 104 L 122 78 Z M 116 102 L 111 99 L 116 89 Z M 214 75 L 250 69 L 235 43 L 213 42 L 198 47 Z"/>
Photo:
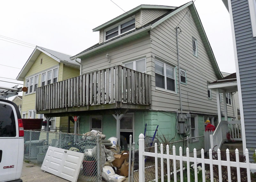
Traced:
<path id="1" fill-rule="evenodd" d="M 37 87 L 79 76 L 80 65 L 71 61 L 70 57 L 71 55 L 36 46 L 16 78 L 24 81 L 24 86 L 28 87 L 28 91 L 23 92 L 22 118 L 44 119 L 43 114 L 36 114 Z M 51 129 L 68 126 L 68 117 L 54 117 L 51 121 Z"/>

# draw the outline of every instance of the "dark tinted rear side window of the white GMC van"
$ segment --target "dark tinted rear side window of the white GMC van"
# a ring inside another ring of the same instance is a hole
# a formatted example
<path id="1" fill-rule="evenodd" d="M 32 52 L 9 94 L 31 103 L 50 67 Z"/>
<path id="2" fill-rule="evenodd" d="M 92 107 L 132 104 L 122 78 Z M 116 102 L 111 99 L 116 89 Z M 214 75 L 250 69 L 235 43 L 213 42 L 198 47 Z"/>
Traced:
<path id="1" fill-rule="evenodd" d="M 16 126 L 12 107 L 0 104 L 0 137 L 15 137 Z"/>

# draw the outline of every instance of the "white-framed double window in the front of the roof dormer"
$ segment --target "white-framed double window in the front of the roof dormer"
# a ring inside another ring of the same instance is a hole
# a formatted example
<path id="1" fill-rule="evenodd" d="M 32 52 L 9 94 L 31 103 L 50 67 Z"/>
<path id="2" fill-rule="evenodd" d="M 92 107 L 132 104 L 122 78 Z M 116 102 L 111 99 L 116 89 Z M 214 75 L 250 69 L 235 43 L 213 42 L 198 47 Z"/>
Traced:
<path id="1" fill-rule="evenodd" d="M 135 28 L 135 19 L 134 18 L 127 18 L 124 21 L 119 22 L 118 24 L 107 28 L 104 31 L 105 34 L 105 41 L 112 39 L 122 33 L 128 32 Z"/>

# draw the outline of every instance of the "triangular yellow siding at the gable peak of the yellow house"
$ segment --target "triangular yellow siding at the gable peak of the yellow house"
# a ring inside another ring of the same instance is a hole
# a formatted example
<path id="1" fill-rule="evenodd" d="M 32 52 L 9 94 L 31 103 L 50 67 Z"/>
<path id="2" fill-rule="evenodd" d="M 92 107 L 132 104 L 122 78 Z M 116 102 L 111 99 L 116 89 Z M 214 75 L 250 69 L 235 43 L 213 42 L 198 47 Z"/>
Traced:
<path id="1" fill-rule="evenodd" d="M 42 64 L 40 64 L 41 63 L 41 58 L 43 58 L 43 63 Z M 41 72 L 45 69 L 51 68 L 51 67 L 53 67 L 55 65 L 58 65 L 58 64 L 59 64 L 58 61 L 52 59 L 48 55 L 41 52 L 40 55 L 37 57 L 36 61 L 34 62 L 34 64 L 29 69 L 25 78 L 30 76 L 30 75 L 34 75 L 38 72 Z"/>

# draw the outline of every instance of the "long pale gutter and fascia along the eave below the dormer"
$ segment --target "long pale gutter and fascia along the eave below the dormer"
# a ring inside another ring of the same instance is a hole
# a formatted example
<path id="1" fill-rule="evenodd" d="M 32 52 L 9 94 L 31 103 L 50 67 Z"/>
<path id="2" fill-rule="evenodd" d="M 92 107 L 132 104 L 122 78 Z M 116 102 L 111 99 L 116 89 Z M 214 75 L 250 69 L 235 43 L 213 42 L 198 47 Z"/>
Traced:
<path id="1" fill-rule="evenodd" d="M 148 26 L 147 26 L 147 27 L 148 27 Z M 133 35 L 136 35 L 136 34 L 138 34 L 138 33 L 142 33 L 142 32 L 145 32 L 145 31 L 149 31 L 149 30 L 151 30 L 151 29 L 152 29 L 152 28 L 151 28 L 150 26 L 149 26 L 149 28 L 146 28 L 146 27 L 145 27 L 145 28 L 141 28 L 140 30 L 137 30 L 137 31 L 135 31 L 135 32 L 133 32 L 133 33 L 130 33 L 130 34 L 128 34 L 128 35 L 125 35 L 125 36 L 123 36 L 123 37 L 120 37 L 119 39 L 109 41 L 109 42 L 107 42 L 107 43 L 105 43 L 105 44 L 102 44 L 102 45 L 99 46 L 99 47 L 92 48 L 91 50 L 88 50 L 88 51 L 86 51 L 86 52 L 84 52 L 84 53 L 81 53 L 81 54 L 79 54 L 79 55 L 73 56 L 73 57 L 70 58 L 70 60 L 74 60 L 74 59 L 76 59 L 76 58 L 80 58 L 80 57 L 82 57 L 82 56 L 84 56 L 84 55 L 87 55 L 87 54 L 92 53 L 92 52 L 94 52 L 94 51 L 96 51 L 96 50 L 98 50 L 98 49 L 101 49 L 102 47 L 105 47 L 105 46 L 114 44 L 114 43 L 116 43 L 116 42 L 118 42 L 118 41 L 120 41 L 120 40 L 129 38 L 129 37 L 131 37 L 131 36 L 133 36 Z"/>

